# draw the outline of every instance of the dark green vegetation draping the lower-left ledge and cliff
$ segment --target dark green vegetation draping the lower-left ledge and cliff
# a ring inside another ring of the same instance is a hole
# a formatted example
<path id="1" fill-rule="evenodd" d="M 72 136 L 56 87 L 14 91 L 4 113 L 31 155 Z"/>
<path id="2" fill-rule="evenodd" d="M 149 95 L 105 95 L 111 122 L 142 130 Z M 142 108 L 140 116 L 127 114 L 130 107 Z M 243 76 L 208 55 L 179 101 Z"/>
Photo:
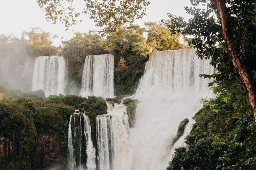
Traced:
<path id="1" fill-rule="evenodd" d="M 2 157 L 1 168 L 30 169 L 41 166 L 34 159 L 35 141 L 39 134 L 56 131 L 63 136 L 60 140 L 64 144 L 67 143 L 66 127 L 73 107 L 25 98 L 0 101 L 0 107 L 0 136 L 3 137 L 3 142 L 10 141 L 13 147 L 17 148 L 10 151 L 11 157 Z M 64 155 L 66 148 L 67 146 L 63 145 Z"/>

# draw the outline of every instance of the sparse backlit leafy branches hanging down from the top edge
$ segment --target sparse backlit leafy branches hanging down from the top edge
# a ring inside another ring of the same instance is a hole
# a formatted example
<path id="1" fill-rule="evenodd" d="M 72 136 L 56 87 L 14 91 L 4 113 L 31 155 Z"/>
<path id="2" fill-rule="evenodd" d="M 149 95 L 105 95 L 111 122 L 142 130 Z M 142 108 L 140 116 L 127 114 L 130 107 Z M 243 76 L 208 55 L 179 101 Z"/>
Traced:
<path id="1" fill-rule="evenodd" d="M 72 7 L 73 0 L 37 0 L 39 6 L 45 9 L 46 19 L 56 23 L 60 21 L 69 26 L 75 25 L 79 12 Z M 89 14 L 96 26 L 105 27 L 103 33 L 116 30 L 118 24 L 133 23 L 134 19 L 146 15 L 146 0 L 84 0 L 82 13 Z M 82 20 L 80 20 L 82 22 Z"/>

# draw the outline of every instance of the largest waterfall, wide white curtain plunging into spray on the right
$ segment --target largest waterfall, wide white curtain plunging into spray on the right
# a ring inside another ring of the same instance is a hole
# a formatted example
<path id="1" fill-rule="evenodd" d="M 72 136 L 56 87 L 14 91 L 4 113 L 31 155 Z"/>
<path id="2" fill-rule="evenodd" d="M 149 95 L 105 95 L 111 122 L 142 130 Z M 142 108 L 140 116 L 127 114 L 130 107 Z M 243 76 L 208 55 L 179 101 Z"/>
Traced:
<path id="1" fill-rule="evenodd" d="M 203 106 L 201 99 L 211 97 L 209 60 L 201 60 L 194 49 L 153 52 L 146 63 L 134 98 L 139 100 L 137 119 L 130 129 L 133 169 L 165 169 L 171 160 L 171 143 L 178 124 Z"/>

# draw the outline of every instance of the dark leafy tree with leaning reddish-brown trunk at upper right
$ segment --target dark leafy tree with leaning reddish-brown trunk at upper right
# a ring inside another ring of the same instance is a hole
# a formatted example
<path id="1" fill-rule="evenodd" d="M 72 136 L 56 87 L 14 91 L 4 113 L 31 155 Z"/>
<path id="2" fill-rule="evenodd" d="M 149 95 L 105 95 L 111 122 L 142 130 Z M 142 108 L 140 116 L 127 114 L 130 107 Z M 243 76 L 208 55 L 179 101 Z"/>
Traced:
<path id="1" fill-rule="evenodd" d="M 185 10 L 194 17 L 188 22 L 181 17 L 169 15 L 171 24 L 166 23 L 172 32 L 193 35 L 191 43 L 197 54 L 211 58 L 219 73 L 214 77 L 242 79 L 247 90 L 256 123 L 256 83 L 255 0 L 192 0 L 193 8 Z M 202 5 L 204 9 L 197 8 Z"/>

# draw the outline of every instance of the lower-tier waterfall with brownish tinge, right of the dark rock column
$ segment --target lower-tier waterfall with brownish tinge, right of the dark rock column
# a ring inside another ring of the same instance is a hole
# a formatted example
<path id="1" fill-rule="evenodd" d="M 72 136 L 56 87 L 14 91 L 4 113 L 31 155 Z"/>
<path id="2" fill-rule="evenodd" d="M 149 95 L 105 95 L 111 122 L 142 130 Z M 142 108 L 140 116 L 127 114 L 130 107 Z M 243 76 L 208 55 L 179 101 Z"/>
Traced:
<path id="1" fill-rule="evenodd" d="M 111 105 L 111 104 L 110 104 Z M 98 165 L 100 170 L 130 170 L 131 153 L 126 107 L 117 104 L 108 113 L 96 117 Z"/>

